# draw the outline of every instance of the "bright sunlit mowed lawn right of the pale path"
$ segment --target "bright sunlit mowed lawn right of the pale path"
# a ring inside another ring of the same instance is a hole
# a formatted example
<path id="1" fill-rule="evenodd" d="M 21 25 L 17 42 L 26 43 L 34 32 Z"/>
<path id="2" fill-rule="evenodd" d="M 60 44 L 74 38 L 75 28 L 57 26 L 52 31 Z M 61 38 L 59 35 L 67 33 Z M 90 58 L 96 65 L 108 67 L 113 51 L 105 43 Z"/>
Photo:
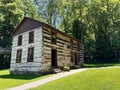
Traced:
<path id="1" fill-rule="evenodd" d="M 120 68 L 89 69 L 30 90 L 120 90 Z"/>

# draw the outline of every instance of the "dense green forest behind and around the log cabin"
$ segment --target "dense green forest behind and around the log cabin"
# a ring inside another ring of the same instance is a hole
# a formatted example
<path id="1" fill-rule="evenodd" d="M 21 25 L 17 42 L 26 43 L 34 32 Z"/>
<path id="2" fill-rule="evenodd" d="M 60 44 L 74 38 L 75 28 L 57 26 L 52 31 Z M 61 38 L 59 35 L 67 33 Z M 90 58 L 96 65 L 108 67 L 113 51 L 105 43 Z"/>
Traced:
<path id="1" fill-rule="evenodd" d="M 24 17 L 45 22 L 84 43 L 85 63 L 120 61 L 120 0 L 0 0 L 0 47 Z M 9 67 L 0 55 L 0 68 Z"/>

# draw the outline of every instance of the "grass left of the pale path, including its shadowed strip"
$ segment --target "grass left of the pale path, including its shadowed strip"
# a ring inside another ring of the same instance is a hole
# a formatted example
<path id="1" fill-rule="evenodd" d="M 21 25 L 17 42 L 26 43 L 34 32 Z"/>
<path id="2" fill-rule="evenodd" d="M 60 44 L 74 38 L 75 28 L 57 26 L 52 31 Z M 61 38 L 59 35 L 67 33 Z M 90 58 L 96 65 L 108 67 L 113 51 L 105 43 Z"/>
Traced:
<path id="1" fill-rule="evenodd" d="M 49 76 L 51 75 L 10 75 L 9 70 L 0 70 L 0 90 L 40 80 Z"/>

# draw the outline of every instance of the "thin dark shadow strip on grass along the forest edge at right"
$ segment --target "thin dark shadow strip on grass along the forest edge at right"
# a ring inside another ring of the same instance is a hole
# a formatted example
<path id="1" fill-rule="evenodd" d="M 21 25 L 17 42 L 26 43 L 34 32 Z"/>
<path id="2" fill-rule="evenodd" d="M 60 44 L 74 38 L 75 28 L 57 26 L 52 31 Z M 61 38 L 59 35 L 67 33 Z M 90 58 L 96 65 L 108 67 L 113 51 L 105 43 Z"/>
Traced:
<path id="1" fill-rule="evenodd" d="M 97 68 L 97 67 L 110 67 L 110 66 L 120 66 L 120 63 L 84 64 L 84 68 Z"/>

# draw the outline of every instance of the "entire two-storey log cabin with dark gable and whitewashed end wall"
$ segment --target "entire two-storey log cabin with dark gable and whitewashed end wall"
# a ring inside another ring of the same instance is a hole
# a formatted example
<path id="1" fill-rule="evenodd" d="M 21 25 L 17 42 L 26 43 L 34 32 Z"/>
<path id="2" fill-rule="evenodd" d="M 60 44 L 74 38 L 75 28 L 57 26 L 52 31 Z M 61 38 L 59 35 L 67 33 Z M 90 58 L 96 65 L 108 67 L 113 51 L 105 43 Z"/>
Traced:
<path id="1" fill-rule="evenodd" d="M 11 74 L 41 74 L 83 66 L 83 44 L 52 26 L 25 17 L 12 32 Z"/>

